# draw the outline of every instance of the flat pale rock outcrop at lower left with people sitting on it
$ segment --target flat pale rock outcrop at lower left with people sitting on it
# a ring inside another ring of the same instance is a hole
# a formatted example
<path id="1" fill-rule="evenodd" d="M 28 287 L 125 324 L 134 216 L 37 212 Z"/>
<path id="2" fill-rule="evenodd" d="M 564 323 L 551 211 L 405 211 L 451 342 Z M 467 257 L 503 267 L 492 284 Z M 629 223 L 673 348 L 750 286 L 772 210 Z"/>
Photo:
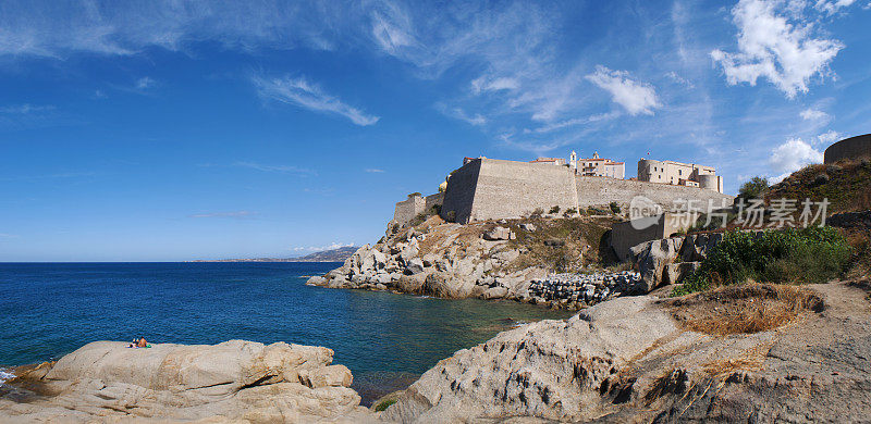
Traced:
<path id="1" fill-rule="evenodd" d="M 95 341 L 8 382 L 2 422 L 370 422 L 327 348 Z"/>

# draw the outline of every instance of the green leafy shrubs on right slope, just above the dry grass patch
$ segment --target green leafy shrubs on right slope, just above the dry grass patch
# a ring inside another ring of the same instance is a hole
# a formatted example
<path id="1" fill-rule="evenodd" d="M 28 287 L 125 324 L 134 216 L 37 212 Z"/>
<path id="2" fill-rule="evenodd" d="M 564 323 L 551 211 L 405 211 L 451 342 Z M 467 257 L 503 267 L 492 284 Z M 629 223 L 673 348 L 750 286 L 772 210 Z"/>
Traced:
<path id="1" fill-rule="evenodd" d="M 711 285 L 759 283 L 825 283 L 839 275 L 851 248 L 835 228 L 731 232 L 716 245 L 699 270 L 673 296 L 704 290 Z"/>

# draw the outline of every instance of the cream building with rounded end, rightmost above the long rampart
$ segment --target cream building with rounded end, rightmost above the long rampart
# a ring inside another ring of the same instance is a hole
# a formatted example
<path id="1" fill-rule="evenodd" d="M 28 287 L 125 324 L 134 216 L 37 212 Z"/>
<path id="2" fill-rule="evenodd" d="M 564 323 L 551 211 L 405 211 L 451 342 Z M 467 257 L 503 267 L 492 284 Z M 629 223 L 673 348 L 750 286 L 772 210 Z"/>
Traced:
<path id="1" fill-rule="evenodd" d="M 716 170 L 695 163 L 641 159 L 638 161 L 638 180 L 723 192 L 723 178 L 716 175 Z"/>

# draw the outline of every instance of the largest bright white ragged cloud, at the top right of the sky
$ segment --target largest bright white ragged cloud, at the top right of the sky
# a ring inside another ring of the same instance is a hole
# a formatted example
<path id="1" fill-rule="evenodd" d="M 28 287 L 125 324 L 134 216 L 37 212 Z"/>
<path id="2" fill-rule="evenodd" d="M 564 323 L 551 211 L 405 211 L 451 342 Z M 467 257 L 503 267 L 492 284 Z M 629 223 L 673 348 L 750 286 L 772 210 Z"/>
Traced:
<path id="1" fill-rule="evenodd" d="M 738 27 L 738 52 L 711 51 L 729 85 L 755 86 L 764 77 L 788 98 L 795 98 L 808 91 L 812 77 L 830 74 L 829 64 L 844 45 L 836 39 L 814 38 L 813 23 L 801 20 L 796 4 L 803 9 L 802 2 L 740 0 L 732 10 Z"/>

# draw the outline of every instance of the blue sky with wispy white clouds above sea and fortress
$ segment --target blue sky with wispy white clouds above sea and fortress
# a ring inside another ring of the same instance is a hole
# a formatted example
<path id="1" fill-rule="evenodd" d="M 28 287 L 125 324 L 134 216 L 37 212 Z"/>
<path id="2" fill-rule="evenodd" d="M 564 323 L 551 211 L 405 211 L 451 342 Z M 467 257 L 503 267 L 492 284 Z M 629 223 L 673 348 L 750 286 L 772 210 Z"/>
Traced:
<path id="1" fill-rule="evenodd" d="M 870 0 L 0 2 L 0 262 L 377 241 L 464 157 L 715 166 L 871 133 Z"/>

